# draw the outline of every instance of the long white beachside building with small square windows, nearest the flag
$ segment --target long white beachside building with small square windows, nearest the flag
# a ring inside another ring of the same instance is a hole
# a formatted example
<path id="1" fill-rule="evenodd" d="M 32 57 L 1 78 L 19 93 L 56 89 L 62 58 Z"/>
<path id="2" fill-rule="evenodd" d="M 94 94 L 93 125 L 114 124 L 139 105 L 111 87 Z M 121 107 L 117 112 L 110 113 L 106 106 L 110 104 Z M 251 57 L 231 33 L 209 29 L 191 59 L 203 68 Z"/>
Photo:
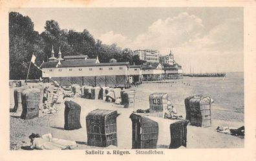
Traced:
<path id="1" fill-rule="evenodd" d="M 61 60 L 59 56 L 58 61 L 52 59 L 41 65 L 45 81 L 54 80 L 60 85 L 129 87 L 129 62 L 100 63 L 98 57 L 82 59 L 81 55 Z"/>

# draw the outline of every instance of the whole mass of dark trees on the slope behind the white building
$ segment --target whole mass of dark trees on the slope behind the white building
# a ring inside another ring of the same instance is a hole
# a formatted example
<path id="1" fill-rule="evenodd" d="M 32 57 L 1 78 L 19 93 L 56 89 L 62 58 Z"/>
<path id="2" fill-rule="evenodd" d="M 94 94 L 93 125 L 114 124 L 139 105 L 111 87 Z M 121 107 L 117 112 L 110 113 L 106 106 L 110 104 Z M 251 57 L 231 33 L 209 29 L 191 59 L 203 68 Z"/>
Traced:
<path id="1" fill-rule="evenodd" d="M 100 62 L 109 62 L 114 58 L 118 62 L 142 64 L 138 55 L 133 55 L 129 48 L 118 47 L 116 44 L 102 44 L 95 41 L 88 30 L 76 32 L 74 30 L 61 30 L 57 21 L 45 22 L 45 31 L 41 34 L 34 31 L 34 23 L 30 17 L 17 12 L 9 13 L 9 43 L 10 43 L 10 79 L 26 79 L 28 65 L 32 53 L 36 55 L 36 64 L 39 66 L 50 57 L 52 45 L 57 57 L 59 47 L 65 55 L 88 55 L 89 58 L 99 57 Z M 29 79 L 38 79 L 41 71 L 32 65 Z"/>

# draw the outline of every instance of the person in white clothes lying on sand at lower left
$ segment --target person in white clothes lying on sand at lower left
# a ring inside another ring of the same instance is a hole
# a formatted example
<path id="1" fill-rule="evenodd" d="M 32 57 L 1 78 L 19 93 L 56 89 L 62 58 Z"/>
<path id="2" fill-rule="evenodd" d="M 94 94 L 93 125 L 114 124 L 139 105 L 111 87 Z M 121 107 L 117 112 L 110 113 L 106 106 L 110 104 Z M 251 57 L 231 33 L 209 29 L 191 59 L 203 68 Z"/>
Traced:
<path id="1" fill-rule="evenodd" d="M 62 138 L 54 138 L 51 133 L 42 135 L 32 133 L 28 138 L 30 138 L 31 149 L 40 150 L 54 150 L 54 149 L 73 149 L 77 147 L 73 140 L 65 140 Z"/>

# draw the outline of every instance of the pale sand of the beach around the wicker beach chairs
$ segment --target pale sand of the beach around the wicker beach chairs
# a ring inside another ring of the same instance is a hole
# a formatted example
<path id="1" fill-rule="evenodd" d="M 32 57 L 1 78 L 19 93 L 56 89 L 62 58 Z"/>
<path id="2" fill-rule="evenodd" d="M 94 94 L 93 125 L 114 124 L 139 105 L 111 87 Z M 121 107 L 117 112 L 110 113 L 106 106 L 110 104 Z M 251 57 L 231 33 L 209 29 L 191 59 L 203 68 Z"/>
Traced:
<path id="1" fill-rule="evenodd" d="M 87 146 L 87 130 L 86 130 L 86 115 L 94 109 L 109 109 L 116 110 L 120 115 L 117 117 L 117 137 L 118 146 L 111 146 L 110 148 L 117 149 L 131 149 L 132 147 L 132 122 L 129 116 L 136 109 L 149 108 L 149 93 L 160 92 L 158 88 L 148 88 L 145 90 L 145 84 L 139 87 L 133 87 L 136 91 L 136 103 L 134 108 L 123 108 L 122 105 L 105 102 L 104 100 L 90 100 L 75 97 L 74 102 L 81 106 L 81 129 L 64 130 L 64 104 L 56 104 L 58 112 L 54 114 L 39 116 L 32 120 L 22 120 L 21 118 L 12 116 L 10 113 L 10 149 L 28 149 L 30 146 L 30 139 L 28 136 L 31 133 L 52 133 L 54 137 L 75 140 L 78 144 L 76 149 L 102 149 L 102 147 Z M 10 88 L 10 98 L 13 98 L 12 88 Z M 164 91 L 162 91 L 164 92 Z M 69 98 L 66 98 L 69 99 Z M 182 98 L 183 99 L 183 98 Z M 180 100 L 182 100 L 180 99 Z M 184 100 L 183 100 L 184 101 Z M 175 102 L 178 114 L 186 117 L 186 111 L 182 102 Z M 184 102 L 183 102 L 184 103 Z M 10 108 L 14 106 L 14 102 L 10 100 Z M 213 106 L 212 124 L 209 128 L 199 128 L 196 126 L 187 126 L 187 148 L 237 148 L 244 147 L 244 138 L 235 137 L 232 135 L 218 133 L 215 129 L 217 126 L 237 127 L 243 126 L 243 113 L 236 113 L 219 109 Z M 159 135 L 158 135 L 158 148 L 168 148 L 171 137 L 169 124 L 173 120 L 159 119 Z M 107 147 L 108 148 L 108 147 Z"/>

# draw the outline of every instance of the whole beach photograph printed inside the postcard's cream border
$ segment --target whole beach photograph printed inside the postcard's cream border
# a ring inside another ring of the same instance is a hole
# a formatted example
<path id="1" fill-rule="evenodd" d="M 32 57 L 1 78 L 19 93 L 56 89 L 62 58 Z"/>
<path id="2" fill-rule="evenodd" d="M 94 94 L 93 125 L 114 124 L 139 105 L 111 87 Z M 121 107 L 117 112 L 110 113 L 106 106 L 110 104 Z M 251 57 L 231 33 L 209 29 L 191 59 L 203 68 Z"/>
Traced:
<path id="1" fill-rule="evenodd" d="M 8 150 L 244 149 L 244 14 L 242 6 L 9 8 Z"/>

